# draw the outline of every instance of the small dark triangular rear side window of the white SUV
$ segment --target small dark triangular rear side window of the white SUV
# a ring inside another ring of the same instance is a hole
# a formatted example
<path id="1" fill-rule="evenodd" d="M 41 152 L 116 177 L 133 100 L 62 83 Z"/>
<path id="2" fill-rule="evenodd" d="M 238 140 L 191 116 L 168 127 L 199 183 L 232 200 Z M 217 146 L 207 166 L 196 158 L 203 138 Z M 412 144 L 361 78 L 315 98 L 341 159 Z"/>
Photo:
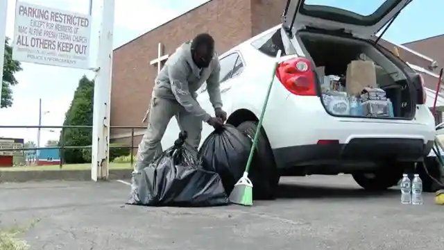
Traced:
<path id="1" fill-rule="evenodd" d="M 279 50 L 282 51 L 281 56 L 295 55 L 296 49 L 294 49 L 293 44 L 291 44 L 287 35 L 284 34 L 282 36 L 282 33 L 284 33 L 282 28 L 278 28 L 275 31 L 262 35 L 252 42 L 251 45 L 255 47 L 255 49 L 271 57 L 276 57 Z"/>

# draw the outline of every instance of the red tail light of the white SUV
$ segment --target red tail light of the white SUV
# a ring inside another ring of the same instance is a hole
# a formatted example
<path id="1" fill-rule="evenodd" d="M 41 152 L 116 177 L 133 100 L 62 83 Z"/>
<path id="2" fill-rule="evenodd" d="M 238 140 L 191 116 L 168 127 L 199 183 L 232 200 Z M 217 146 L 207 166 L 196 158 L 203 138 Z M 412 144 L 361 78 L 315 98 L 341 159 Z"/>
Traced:
<path id="1" fill-rule="evenodd" d="M 306 58 L 292 58 L 278 65 L 276 76 L 289 92 L 302 96 L 316 95 L 314 74 Z"/>

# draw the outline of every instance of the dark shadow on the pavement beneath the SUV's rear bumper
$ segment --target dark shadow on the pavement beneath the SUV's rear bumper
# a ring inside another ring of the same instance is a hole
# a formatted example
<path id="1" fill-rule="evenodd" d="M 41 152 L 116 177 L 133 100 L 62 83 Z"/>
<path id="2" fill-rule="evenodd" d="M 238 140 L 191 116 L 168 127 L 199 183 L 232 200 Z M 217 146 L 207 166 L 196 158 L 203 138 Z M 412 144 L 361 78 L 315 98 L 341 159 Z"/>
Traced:
<path id="1" fill-rule="evenodd" d="M 334 199 L 334 198 L 370 198 L 398 195 L 399 191 L 390 189 L 386 191 L 370 192 L 362 188 L 328 187 L 319 185 L 280 184 L 278 187 L 278 199 Z"/>

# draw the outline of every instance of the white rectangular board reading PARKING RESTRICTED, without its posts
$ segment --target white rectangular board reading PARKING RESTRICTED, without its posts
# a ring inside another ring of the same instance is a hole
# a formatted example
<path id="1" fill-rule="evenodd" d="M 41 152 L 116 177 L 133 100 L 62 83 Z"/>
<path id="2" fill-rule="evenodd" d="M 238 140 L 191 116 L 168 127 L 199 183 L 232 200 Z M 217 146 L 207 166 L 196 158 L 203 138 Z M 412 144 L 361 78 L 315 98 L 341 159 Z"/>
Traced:
<path id="1" fill-rule="evenodd" d="M 89 15 L 17 1 L 12 58 L 89 69 L 91 24 Z"/>

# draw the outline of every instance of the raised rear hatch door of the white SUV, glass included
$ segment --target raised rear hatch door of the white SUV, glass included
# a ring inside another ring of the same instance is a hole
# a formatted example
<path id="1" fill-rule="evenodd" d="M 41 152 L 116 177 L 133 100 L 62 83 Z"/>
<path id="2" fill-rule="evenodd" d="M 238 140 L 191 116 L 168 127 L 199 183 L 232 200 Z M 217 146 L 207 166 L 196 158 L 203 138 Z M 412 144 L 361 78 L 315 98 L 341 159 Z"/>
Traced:
<path id="1" fill-rule="evenodd" d="M 282 16 L 287 31 L 296 33 L 307 26 L 340 30 L 368 39 L 413 0 L 288 0 Z"/>

